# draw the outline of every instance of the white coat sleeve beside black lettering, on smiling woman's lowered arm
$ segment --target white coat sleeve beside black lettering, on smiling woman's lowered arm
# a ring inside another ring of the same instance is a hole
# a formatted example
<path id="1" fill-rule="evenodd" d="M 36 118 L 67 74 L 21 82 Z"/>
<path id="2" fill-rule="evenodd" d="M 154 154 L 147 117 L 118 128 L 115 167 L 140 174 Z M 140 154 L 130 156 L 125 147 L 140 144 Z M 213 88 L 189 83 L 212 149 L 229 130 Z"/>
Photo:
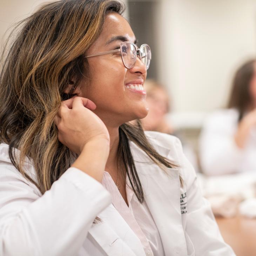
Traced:
<path id="1" fill-rule="evenodd" d="M 177 139 L 178 140 L 178 139 Z M 221 236 L 209 202 L 203 198 L 196 173 L 182 153 L 178 142 L 178 155 L 187 195 L 187 221 L 185 231 L 195 248 L 195 256 L 235 256 L 231 247 Z"/>

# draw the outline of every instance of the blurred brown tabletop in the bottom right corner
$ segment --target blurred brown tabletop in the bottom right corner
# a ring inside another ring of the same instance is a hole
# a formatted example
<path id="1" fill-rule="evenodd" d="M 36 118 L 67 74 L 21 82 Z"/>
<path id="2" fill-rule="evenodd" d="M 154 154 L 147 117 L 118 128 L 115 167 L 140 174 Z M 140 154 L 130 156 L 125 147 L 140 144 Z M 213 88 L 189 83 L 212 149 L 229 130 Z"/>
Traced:
<path id="1" fill-rule="evenodd" d="M 221 234 L 237 256 L 256 256 L 256 219 L 216 217 Z"/>

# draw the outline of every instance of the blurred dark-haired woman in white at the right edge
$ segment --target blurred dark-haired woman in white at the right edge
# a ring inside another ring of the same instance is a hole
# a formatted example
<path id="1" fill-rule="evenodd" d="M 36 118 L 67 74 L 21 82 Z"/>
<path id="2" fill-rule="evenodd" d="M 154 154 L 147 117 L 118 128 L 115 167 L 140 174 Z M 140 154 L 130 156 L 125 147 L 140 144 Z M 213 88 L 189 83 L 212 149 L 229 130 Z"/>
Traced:
<path id="1" fill-rule="evenodd" d="M 256 171 L 256 62 L 238 68 L 227 109 L 211 114 L 200 138 L 202 170 L 209 175 Z"/>

